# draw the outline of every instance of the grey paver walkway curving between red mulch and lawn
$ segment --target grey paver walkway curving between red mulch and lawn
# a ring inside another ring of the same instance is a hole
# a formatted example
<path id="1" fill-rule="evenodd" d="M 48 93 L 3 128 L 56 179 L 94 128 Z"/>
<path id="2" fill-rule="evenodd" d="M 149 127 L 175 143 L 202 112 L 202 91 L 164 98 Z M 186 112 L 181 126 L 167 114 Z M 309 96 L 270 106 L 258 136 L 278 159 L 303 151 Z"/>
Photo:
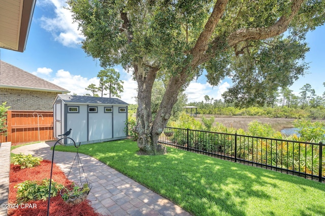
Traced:
<path id="1" fill-rule="evenodd" d="M 14 149 L 15 154 L 24 153 L 52 160 L 54 142 L 37 143 Z M 76 153 L 54 152 L 54 160 L 66 175 Z M 91 205 L 104 215 L 190 215 L 181 207 L 152 192 L 115 169 L 88 155 L 79 154 L 86 177 L 92 184 L 87 197 Z M 75 162 L 76 164 L 76 162 Z M 50 175 L 50 172 L 49 172 Z M 78 166 L 74 165 L 69 179 L 79 182 Z"/>

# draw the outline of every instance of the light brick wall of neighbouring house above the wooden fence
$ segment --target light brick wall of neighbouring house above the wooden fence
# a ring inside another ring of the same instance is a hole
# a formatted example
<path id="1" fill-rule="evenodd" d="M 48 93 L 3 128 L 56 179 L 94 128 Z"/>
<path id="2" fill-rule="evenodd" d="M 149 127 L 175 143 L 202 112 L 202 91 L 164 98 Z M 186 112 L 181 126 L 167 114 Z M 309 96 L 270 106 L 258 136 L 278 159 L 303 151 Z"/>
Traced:
<path id="1" fill-rule="evenodd" d="M 16 89 L 0 89 L 0 103 L 7 102 L 10 110 L 53 110 L 57 93 Z"/>

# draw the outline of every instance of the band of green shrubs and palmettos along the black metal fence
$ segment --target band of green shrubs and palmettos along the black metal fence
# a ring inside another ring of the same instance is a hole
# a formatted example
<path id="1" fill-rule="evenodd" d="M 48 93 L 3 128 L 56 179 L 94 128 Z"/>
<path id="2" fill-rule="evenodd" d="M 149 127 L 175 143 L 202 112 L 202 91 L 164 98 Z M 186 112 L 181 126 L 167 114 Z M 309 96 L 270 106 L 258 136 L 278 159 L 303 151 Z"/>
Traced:
<path id="1" fill-rule="evenodd" d="M 170 125 L 176 127 L 169 128 L 169 130 L 175 132 L 175 136 L 167 138 L 167 140 L 181 147 L 188 147 L 192 151 L 195 149 L 229 157 L 235 157 L 237 151 L 237 158 L 243 160 L 318 175 L 319 147 L 300 143 L 314 142 L 315 139 L 306 139 L 307 136 L 297 136 L 295 134 L 287 137 L 280 132 L 274 131 L 270 124 L 261 123 L 256 120 L 249 123 L 247 132 L 241 129 L 228 128 L 220 123 L 217 123 L 216 126 L 211 127 L 210 131 L 207 131 L 209 124 L 212 122 L 211 119 L 213 118 L 210 118 L 210 121 L 204 120 L 201 126 L 199 126 L 200 122 L 198 120 L 185 114 L 177 121 L 170 122 Z M 319 136 L 323 136 L 321 129 L 315 126 L 313 129 L 311 128 L 309 120 L 297 120 L 297 122 L 305 122 L 303 125 L 309 125 L 305 129 L 305 133 L 308 132 L 312 135 L 314 129 L 317 129 L 320 131 L 318 133 Z M 187 123 L 197 125 L 196 128 L 200 129 L 194 129 Z M 189 130 L 182 128 L 184 125 L 188 126 Z M 322 123 L 313 123 L 313 125 L 319 126 Z M 235 146 L 235 134 L 237 134 L 237 149 Z M 164 141 L 166 139 L 163 139 Z M 325 154 L 323 155 L 322 159 L 324 160 Z M 322 175 L 325 176 L 325 171 Z"/>

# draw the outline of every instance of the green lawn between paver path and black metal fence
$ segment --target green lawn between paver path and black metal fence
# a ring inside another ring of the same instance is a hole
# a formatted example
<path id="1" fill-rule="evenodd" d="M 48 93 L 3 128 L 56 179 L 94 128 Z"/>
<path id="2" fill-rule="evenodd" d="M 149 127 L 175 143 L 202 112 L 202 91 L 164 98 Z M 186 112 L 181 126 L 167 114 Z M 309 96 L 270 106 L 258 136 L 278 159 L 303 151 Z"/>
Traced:
<path id="1" fill-rule="evenodd" d="M 173 148 L 137 151 L 131 140 L 79 148 L 194 215 L 325 215 L 323 183 Z"/>

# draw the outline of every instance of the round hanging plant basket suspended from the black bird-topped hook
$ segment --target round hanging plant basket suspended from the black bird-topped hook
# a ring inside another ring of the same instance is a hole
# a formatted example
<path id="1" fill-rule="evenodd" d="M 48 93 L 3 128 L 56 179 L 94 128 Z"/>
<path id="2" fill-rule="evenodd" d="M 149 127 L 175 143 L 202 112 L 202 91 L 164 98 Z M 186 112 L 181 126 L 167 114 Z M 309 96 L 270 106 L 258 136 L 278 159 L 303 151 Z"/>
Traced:
<path id="1" fill-rule="evenodd" d="M 73 182 L 71 185 L 64 187 L 60 191 L 60 195 L 69 205 L 75 205 L 84 201 L 92 188 L 89 182 Z"/>

